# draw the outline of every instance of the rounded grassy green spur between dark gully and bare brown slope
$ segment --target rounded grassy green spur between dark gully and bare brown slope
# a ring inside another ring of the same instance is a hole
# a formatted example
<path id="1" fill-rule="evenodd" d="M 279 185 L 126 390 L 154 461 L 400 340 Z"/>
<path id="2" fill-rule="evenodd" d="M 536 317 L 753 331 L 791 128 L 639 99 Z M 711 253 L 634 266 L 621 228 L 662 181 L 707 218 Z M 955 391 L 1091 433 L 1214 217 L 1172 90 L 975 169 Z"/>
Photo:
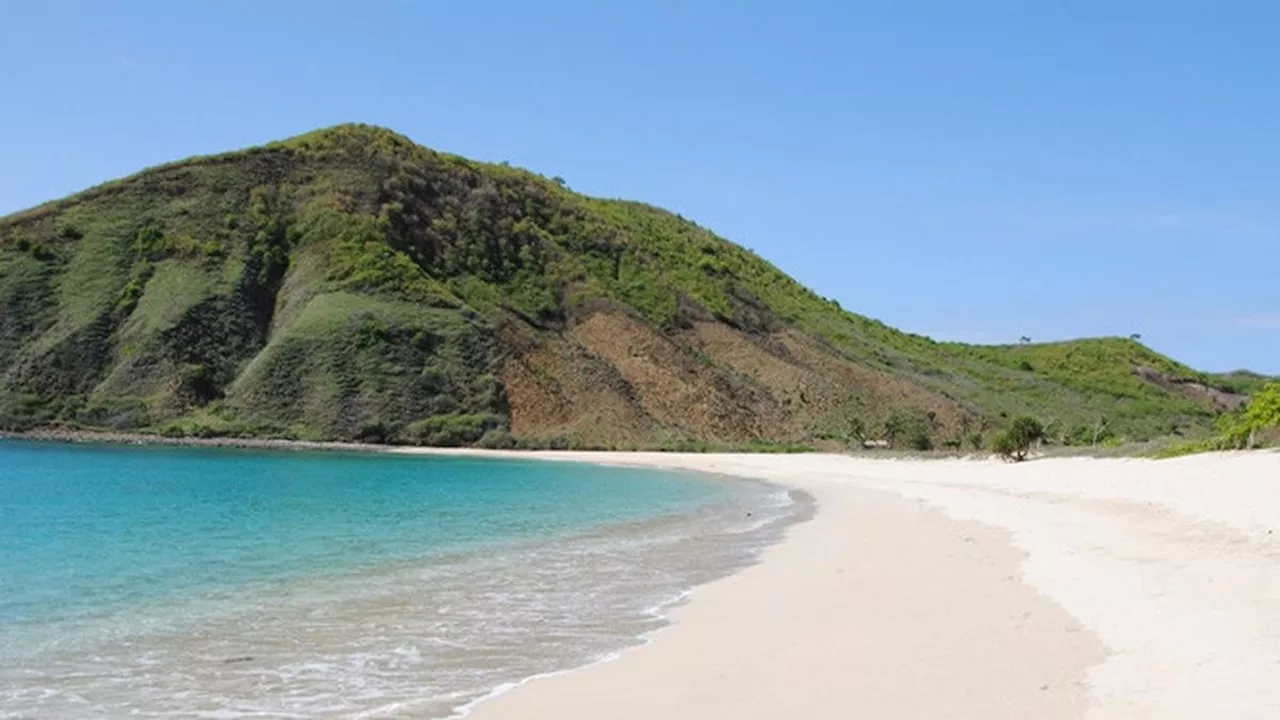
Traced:
<path id="1" fill-rule="evenodd" d="M 475 372 L 493 364 L 484 325 L 457 311 L 323 293 L 271 338 L 227 402 L 308 434 L 424 442 L 434 436 L 421 423 L 438 416 L 495 415 L 497 380 Z"/>

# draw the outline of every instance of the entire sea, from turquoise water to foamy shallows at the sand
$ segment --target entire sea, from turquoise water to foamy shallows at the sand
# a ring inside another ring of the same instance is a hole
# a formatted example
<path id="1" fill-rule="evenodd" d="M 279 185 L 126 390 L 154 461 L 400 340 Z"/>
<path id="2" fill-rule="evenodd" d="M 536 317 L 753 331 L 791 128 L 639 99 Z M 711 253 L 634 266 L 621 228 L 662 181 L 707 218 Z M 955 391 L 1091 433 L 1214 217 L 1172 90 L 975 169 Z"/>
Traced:
<path id="1" fill-rule="evenodd" d="M 0 717 L 449 717 L 805 510 L 579 464 L 0 441 Z"/>

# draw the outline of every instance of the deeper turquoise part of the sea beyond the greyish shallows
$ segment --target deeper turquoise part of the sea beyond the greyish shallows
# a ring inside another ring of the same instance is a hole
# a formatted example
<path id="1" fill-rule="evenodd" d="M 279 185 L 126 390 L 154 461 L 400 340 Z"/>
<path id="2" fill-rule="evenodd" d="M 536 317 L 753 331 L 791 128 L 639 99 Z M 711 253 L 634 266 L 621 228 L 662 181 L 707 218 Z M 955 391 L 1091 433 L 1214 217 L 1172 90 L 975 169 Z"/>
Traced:
<path id="1" fill-rule="evenodd" d="M 572 533 L 721 492 L 536 461 L 4 443 L 0 623 Z"/>

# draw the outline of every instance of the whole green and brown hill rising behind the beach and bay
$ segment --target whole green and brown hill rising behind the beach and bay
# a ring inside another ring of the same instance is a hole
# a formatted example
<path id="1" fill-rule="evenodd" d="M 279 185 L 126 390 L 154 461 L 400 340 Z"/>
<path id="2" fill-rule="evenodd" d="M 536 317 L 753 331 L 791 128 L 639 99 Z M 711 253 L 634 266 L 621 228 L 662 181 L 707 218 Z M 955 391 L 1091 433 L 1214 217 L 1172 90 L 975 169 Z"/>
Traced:
<path id="1" fill-rule="evenodd" d="M 1080 442 L 1199 434 L 1257 384 L 905 334 L 671 213 L 366 126 L 0 219 L 0 313 L 19 430 L 954 445 L 1033 414 Z"/>

